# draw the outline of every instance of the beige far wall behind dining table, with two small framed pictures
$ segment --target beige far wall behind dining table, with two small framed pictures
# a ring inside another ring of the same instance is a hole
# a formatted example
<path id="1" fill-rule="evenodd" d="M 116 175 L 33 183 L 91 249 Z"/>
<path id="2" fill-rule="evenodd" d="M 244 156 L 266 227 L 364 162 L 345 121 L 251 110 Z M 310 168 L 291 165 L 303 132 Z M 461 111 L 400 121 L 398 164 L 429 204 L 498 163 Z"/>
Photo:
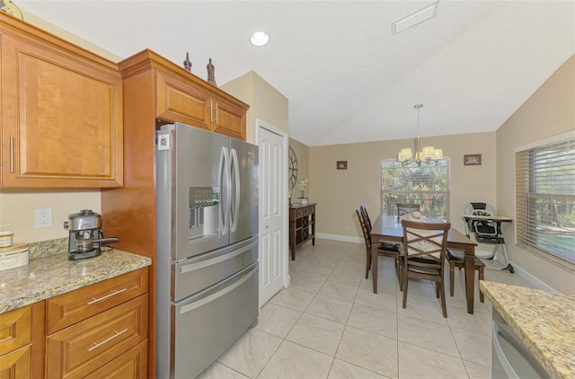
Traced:
<path id="1" fill-rule="evenodd" d="M 422 138 L 425 145 L 443 148 L 451 159 L 449 212 L 453 226 L 464 232 L 461 215 L 471 201 L 496 203 L 495 133 Z M 355 209 L 366 203 L 375 218 L 380 209 L 380 162 L 394 159 L 412 139 L 310 147 L 310 199 L 317 201 L 317 233 L 361 237 Z M 464 166 L 464 154 L 482 154 L 482 164 Z M 348 161 L 348 170 L 336 170 Z M 349 229 L 348 229 L 349 226 Z"/>

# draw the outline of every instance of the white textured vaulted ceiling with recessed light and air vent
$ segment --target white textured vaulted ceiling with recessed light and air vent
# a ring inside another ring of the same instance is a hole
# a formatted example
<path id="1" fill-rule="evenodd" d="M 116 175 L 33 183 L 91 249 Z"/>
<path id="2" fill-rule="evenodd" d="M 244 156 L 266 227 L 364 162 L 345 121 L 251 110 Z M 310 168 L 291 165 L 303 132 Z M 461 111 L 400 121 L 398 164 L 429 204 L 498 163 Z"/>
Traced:
<path id="1" fill-rule="evenodd" d="M 251 70 L 289 101 L 305 145 L 494 131 L 575 53 L 575 2 L 14 0 L 119 57 L 144 48 L 217 84 Z M 270 34 L 262 48 L 253 31 Z M 575 91 L 575 84 L 574 91 Z"/>

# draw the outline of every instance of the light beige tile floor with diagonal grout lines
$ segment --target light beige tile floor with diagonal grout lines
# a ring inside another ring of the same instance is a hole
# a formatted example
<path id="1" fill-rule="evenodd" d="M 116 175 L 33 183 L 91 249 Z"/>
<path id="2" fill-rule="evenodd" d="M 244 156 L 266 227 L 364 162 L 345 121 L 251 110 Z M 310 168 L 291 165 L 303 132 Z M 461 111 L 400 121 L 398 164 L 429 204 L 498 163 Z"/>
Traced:
<path id="1" fill-rule="evenodd" d="M 377 294 L 365 261 L 359 243 L 302 246 L 291 286 L 200 377 L 491 378 L 491 304 L 476 290 L 474 314 L 466 313 L 463 270 L 454 297 L 446 282 L 445 319 L 431 282 L 410 281 L 403 309 L 394 260 L 379 259 Z M 487 269 L 485 280 L 529 286 L 509 271 Z"/>

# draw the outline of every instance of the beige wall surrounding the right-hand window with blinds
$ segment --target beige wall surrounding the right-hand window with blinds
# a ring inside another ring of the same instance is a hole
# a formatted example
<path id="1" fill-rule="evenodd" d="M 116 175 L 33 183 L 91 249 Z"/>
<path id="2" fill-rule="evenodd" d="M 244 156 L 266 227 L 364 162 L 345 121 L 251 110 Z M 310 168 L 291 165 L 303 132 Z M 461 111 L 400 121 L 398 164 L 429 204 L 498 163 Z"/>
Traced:
<path id="1" fill-rule="evenodd" d="M 497 131 L 500 212 L 515 215 L 515 151 L 575 128 L 575 56 L 571 56 Z M 505 232 L 505 230 L 504 230 Z M 507 226 L 509 259 L 560 292 L 575 294 L 575 266 L 571 271 L 518 248 L 513 225 Z"/>

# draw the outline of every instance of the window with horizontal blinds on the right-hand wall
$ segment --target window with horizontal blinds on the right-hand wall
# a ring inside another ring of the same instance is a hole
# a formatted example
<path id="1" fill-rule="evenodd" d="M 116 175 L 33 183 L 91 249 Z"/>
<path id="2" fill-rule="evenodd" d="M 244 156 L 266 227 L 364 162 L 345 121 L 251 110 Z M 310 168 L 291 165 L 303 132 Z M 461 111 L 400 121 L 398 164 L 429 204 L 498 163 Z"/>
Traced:
<path id="1" fill-rule="evenodd" d="M 574 136 L 515 154 L 516 243 L 569 269 L 565 261 L 575 264 Z"/>

